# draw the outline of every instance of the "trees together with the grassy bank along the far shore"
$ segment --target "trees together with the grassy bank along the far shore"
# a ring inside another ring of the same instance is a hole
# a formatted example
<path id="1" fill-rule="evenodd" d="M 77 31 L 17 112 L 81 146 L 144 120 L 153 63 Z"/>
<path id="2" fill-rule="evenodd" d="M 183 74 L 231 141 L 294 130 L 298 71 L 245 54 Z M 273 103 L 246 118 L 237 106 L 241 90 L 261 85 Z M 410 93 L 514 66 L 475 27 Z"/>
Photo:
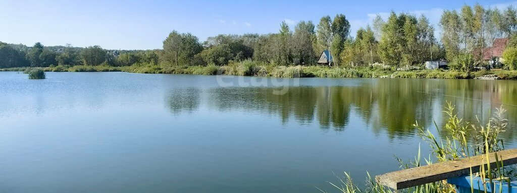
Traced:
<path id="1" fill-rule="evenodd" d="M 276 77 L 473 78 L 517 70 L 517 10 L 465 5 L 445 10 L 437 26 L 424 15 L 391 12 L 351 34 L 345 15 L 322 17 L 317 25 L 282 22 L 278 33 L 218 35 L 204 42 L 172 31 L 157 50 L 105 50 L 100 46 L 32 47 L 0 42 L 0 68 L 45 67 L 55 72 L 125 71 L 135 73 L 227 74 Z M 435 28 L 440 29 L 440 38 Z M 508 38 L 503 68 L 483 71 L 498 56 L 486 52 L 498 38 Z M 318 65 L 329 50 L 333 62 Z M 490 59 L 486 59 L 490 58 Z M 424 62 L 444 59 L 450 70 L 425 69 Z"/>

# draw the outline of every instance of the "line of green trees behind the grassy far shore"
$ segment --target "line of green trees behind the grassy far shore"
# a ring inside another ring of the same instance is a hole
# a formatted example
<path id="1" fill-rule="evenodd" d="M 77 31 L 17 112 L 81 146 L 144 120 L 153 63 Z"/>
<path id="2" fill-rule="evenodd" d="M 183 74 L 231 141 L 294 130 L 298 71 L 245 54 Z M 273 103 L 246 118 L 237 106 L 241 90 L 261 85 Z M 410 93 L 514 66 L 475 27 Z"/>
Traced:
<path id="1" fill-rule="evenodd" d="M 441 30 L 438 39 L 436 27 Z M 446 59 L 451 68 L 468 71 L 484 65 L 485 49 L 495 39 L 510 38 L 510 42 L 517 42 L 517 11 L 511 6 L 499 10 L 479 4 L 465 5 L 460 11 L 445 10 L 436 27 L 423 14 L 392 11 L 386 21 L 377 15 L 371 25 L 357 30 L 355 36 L 350 34 L 351 25 L 345 15 L 337 14 L 333 18 L 322 17 L 317 25 L 300 21 L 291 29 L 282 22 L 277 33 L 218 35 L 204 42 L 190 33 L 172 31 L 159 50 L 115 51 L 100 46 L 43 46 L 39 42 L 27 47 L 0 42 L 0 68 L 134 64 L 224 66 L 241 60 L 271 65 L 315 65 L 322 51 L 329 50 L 333 66 L 356 67 L 376 62 L 413 66 L 427 60 Z M 514 55 L 517 63 L 517 53 L 513 53 L 506 55 L 508 58 Z M 514 69 L 511 65 L 510 68 Z"/>

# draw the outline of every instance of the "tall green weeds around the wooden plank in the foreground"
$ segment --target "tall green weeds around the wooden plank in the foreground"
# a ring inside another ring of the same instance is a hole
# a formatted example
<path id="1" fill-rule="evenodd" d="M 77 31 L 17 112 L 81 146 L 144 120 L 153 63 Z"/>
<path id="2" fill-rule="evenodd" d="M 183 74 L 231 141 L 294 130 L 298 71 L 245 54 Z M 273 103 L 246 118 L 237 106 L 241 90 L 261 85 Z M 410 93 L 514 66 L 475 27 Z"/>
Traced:
<path id="1" fill-rule="evenodd" d="M 422 159 L 420 147 L 418 147 L 415 160 L 410 160 L 410 162 L 405 163 L 403 160 L 397 158 L 402 169 L 419 167 L 422 163 L 429 165 L 433 164 L 433 162 L 447 162 L 505 149 L 503 139 L 499 138 L 501 133 L 506 132 L 506 126 L 508 124 L 508 120 L 505 118 L 506 110 L 502 107 L 498 108 L 494 116 L 486 123 L 478 122 L 471 124 L 463 121 L 463 119 L 458 117 L 455 107 L 450 103 L 448 103 L 444 112 L 448 116 L 448 120 L 442 128 L 438 128 L 438 126 L 435 125 L 436 131 L 426 129 L 419 125 L 418 122 L 414 124 L 414 127 L 419 131 L 419 136 L 422 141 L 431 147 L 431 152 L 429 157 L 423 157 Z M 435 134 L 437 132 L 443 133 L 445 136 L 436 137 Z M 490 159 L 496 158 L 491 157 Z M 479 163 L 481 172 L 471 172 L 471 175 L 479 176 L 483 180 L 489 179 L 490 181 L 504 178 L 514 180 L 517 177 L 515 169 L 512 166 L 503 167 L 502 164 L 499 164 L 497 167 L 490 168 L 490 166 L 484 166 L 484 164 L 485 163 Z M 330 184 L 344 193 L 396 192 L 377 184 L 375 180 L 371 178 L 370 174 L 367 176 L 366 188 L 360 188 L 360 186 L 353 181 L 351 175 L 346 172 L 344 179 L 339 178 L 339 183 Z M 486 183 L 488 183 L 488 181 L 486 181 Z M 326 191 L 322 190 L 322 192 Z M 408 188 L 405 189 L 404 192 L 455 192 L 455 189 L 453 185 L 448 184 L 446 181 L 439 181 Z"/>

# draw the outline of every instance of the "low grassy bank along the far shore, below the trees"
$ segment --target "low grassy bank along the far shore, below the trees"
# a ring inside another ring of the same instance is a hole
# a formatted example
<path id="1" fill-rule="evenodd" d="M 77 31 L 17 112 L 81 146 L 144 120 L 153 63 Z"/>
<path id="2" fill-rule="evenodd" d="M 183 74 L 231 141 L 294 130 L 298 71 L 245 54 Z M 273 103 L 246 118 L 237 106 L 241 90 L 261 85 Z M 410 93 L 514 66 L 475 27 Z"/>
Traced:
<path id="1" fill-rule="evenodd" d="M 0 71 L 25 71 L 27 68 L 1 69 Z M 264 62 L 245 60 L 233 62 L 226 66 L 165 66 L 135 64 L 125 67 L 112 66 L 52 66 L 42 68 L 48 72 L 131 72 L 150 74 L 195 74 L 195 75 L 239 75 L 270 77 L 332 77 L 332 78 L 443 78 L 470 79 L 485 74 L 496 74 L 501 79 L 517 79 L 517 71 L 478 71 L 460 72 L 453 70 L 412 70 L 396 71 L 374 67 L 328 67 L 328 66 L 276 66 Z"/>

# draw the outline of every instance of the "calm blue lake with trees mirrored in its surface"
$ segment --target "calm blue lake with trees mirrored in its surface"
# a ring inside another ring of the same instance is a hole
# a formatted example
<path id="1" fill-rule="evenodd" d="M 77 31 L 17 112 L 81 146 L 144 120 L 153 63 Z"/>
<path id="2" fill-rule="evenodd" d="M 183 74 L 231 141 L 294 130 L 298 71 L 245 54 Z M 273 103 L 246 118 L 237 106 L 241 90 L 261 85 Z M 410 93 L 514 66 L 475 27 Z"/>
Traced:
<path id="1" fill-rule="evenodd" d="M 515 147 L 516 83 L 0 72 L 0 192 L 337 192 L 413 159 L 447 101 L 503 105 Z"/>

